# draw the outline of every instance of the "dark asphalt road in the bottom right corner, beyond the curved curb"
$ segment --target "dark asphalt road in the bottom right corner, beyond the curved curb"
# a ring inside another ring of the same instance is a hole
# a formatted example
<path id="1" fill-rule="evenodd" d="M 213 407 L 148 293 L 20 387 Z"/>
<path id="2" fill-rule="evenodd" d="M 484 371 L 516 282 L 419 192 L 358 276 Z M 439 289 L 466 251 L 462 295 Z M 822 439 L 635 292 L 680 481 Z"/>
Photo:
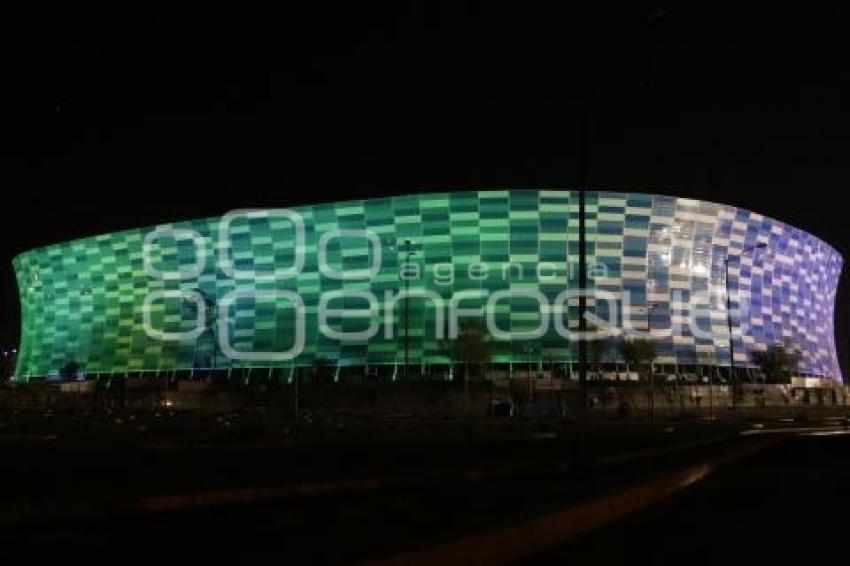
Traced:
<path id="1" fill-rule="evenodd" d="M 789 438 L 529 562 L 840 564 L 848 516 L 850 436 Z"/>

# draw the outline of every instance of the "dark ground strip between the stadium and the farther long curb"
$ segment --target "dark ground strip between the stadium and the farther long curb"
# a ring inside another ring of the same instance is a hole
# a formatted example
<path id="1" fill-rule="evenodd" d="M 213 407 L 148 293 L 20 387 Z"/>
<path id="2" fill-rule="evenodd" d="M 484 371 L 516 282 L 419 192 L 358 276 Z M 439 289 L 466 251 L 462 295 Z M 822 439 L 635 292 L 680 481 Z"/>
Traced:
<path id="1" fill-rule="evenodd" d="M 12 504 L 115 505 L 214 489 L 572 466 L 579 446 L 575 427 L 508 419 L 385 418 L 276 430 L 251 414 L 31 412 L 2 423 L 0 512 Z M 594 426 L 587 458 L 714 439 L 739 426 Z"/>

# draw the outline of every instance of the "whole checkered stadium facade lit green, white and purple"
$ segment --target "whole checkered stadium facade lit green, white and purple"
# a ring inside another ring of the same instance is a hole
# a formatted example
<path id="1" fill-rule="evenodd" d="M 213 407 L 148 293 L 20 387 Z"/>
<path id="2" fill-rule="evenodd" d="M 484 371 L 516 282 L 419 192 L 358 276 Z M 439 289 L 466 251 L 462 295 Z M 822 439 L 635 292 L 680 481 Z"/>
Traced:
<path id="1" fill-rule="evenodd" d="M 55 376 L 71 360 L 88 374 L 212 366 L 285 376 L 322 360 L 398 375 L 405 345 L 413 375 L 452 375 L 458 360 L 446 342 L 453 323 L 471 318 L 487 322 L 494 369 L 533 363 L 574 376 L 578 194 L 464 191 L 237 211 L 26 252 L 14 261 L 16 376 Z M 651 330 L 658 364 L 728 368 L 731 318 L 737 368 L 782 343 L 801 351 L 801 374 L 840 380 L 842 258 L 829 245 L 721 204 L 585 198 L 595 332 Z"/>

